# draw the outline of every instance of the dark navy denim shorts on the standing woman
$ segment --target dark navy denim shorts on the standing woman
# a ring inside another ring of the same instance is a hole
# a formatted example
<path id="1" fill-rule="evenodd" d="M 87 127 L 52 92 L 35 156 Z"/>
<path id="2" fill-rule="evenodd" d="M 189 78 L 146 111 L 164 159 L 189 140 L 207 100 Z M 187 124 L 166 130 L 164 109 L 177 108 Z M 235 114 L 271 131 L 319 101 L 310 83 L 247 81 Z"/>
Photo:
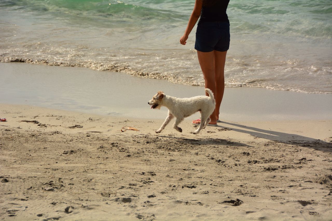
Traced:
<path id="1" fill-rule="evenodd" d="M 195 49 L 202 52 L 227 51 L 230 34 L 228 22 L 201 22 L 197 25 Z"/>

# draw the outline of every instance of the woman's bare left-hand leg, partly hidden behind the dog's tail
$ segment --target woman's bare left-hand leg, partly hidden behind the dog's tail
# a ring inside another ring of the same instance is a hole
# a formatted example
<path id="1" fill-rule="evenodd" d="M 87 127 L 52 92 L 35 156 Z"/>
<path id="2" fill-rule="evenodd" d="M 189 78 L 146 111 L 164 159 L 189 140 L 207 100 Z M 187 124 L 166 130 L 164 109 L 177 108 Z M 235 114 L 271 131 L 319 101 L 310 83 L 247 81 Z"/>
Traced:
<path id="1" fill-rule="evenodd" d="M 216 99 L 216 78 L 215 78 L 215 65 L 214 65 L 214 56 L 215 56 L 215 52 L 214 51 L 210 51 L 210 52 L 202 52 L 202 51 L 197 51 L 197 55 L 198 55 L 198 61 L 200 62 L 200 66 L 203 72 L 203 76 L 204 76 L 204 80 L 205 80 L 205 88 L 209 88 L 212 92 L 213 95 Z M 219 54 L 218 54 L 219 56 Z M 218 57 L 219 60 L 219 57 Z M 220 65 L 217 65 L 218 68 Z M 219 78 L 218 78 L 219 80 Z M 219 89 L 220 90 L 220 89 Z M 208 94 L 206 93 L 206 95 L 208 96 Z M 220 107 L 220 104 L 219 104 Z M 217 109 L 219 112 L 219 109 Z M 210 118 L 210 124 L 216 124 L 217 121 L 215 119 L 215 110 L 213 111 L 213 113 L 211 114 Z"/>

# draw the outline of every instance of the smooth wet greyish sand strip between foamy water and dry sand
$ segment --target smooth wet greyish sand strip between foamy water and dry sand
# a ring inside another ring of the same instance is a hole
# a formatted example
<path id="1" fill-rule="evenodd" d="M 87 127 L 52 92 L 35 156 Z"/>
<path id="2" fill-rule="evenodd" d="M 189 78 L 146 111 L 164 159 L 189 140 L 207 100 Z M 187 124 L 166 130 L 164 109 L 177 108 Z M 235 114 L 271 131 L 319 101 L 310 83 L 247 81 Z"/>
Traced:
<path id="1" fill-rule="evenodd" d="M 1 103 L 101 115 L 164 119 L 167 109 L 149 109 L 159 90 L 174 97 L 204 94 L 204 88 L 87 68 L 0 63 Z M 225 121 L 332 119 L 332 94 L 264 88 L 225 88 L 220 119 Z M 197 119 L 194 114 L 185 120 Z"/>

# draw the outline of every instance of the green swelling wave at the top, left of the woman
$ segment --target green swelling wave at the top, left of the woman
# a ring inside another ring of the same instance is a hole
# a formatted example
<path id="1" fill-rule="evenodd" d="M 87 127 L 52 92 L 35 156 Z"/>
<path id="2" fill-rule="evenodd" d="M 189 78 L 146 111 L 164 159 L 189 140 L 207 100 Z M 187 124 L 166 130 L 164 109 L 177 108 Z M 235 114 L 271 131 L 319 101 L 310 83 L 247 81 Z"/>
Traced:
<path id="1" fill-rule="evenodd" d="M 49 20 L 50 16 L 55 19 L 63 18 L 64 22 L 78 26 L 122 27 L 124 23 L 137 24 L 141 21 L 148 25 L 156 22 L 172 23 L 187 18 L 181 12 L 148 6 L 106 0 L 0 1 L 0 7 L 22 13 L 36 13 L 44 20 Z"/>

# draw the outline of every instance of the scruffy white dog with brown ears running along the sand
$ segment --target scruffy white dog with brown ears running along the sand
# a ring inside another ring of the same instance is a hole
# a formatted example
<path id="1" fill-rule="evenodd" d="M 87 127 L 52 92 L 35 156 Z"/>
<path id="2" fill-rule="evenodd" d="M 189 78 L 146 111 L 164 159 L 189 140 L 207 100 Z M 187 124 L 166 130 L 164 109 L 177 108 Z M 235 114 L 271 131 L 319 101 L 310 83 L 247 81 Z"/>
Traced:
<path id="1" fill-rule="evenodd" d="M 205 91 L 209 94 L 209 97 L 196 96 L 192 98 L 175 98 L 168 95 L 166 96 L 162 91 L 159 91 L 153 96 L 152 100 L 148 102 L 148 104 L 151 105 L 151 109 L 160 109 L 161 106 L 168 108 L 168 116 L 156 133 L 160 133 L 173 117 L 176 117 L 175 123 L 173 124 L 174 129 L 182 132 L 182 129 L 178 127 L 179 123 L 185 117 L 200 111 L 201 124 L 199 128 L 194 131 L 194 134 L 198 134 L 211 121 L 210 115 L 215 109 L 215 100 L 212 91 L 208 88 L 206 88 Z"/>

